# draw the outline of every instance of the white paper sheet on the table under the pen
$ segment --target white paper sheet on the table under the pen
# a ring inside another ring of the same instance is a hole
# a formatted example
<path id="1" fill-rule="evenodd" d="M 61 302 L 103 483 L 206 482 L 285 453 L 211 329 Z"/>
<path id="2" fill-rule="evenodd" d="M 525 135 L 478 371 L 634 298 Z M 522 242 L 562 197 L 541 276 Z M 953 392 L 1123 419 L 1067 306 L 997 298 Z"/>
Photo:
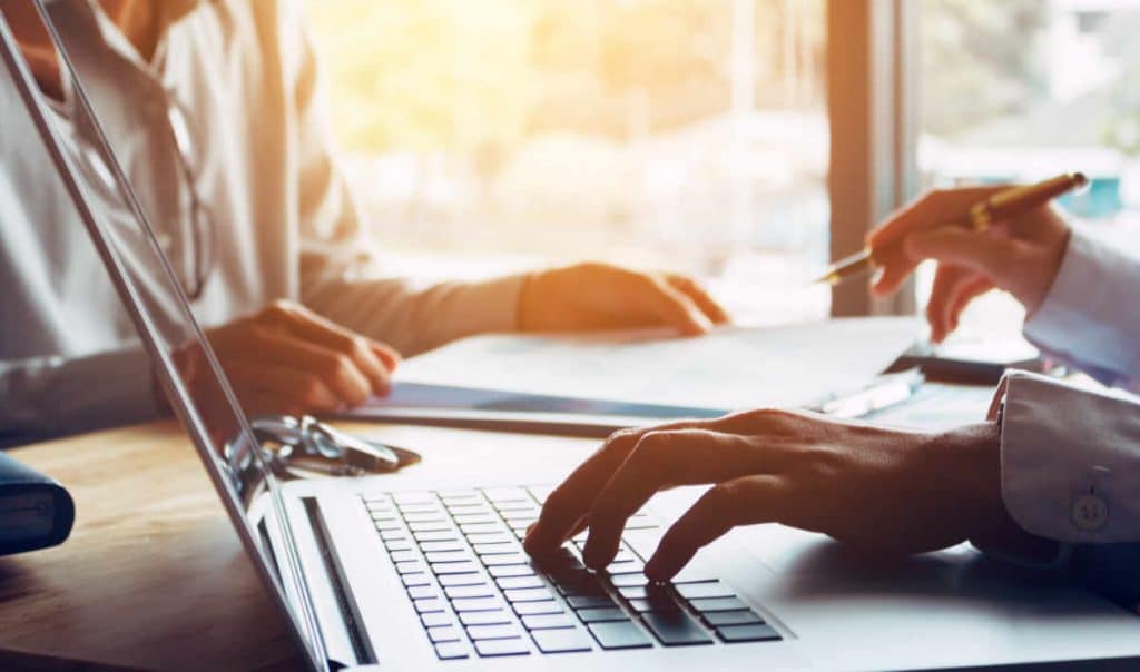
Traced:
<path id="1" fill-rule="evenodd" d="M 474 336 L 405 361 L 396 379 L 708 409 L 812 405 L 868 384 L 918 333 L 912 318 L 856 318 L 700 338 Z"/>

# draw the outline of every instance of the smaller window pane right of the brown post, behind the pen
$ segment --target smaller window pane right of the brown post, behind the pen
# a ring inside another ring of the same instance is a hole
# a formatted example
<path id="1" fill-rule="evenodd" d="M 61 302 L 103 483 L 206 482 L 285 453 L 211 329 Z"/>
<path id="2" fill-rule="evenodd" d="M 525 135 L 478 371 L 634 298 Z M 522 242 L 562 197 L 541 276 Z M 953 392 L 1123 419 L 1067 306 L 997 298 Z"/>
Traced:
<path id="1" fill-rule="evenodd" d="M 1140 0 L 925 0 L 919 170 L 927 187 L 1092 179 L 1061 206 L 1115 239 L 1140 224 Z M 929 273 L 927 273 L 929 279 Z M 925 300 L 928 282 L 920 282 Z M 1000 295 L 963 325 L 1016 329 Z"/>

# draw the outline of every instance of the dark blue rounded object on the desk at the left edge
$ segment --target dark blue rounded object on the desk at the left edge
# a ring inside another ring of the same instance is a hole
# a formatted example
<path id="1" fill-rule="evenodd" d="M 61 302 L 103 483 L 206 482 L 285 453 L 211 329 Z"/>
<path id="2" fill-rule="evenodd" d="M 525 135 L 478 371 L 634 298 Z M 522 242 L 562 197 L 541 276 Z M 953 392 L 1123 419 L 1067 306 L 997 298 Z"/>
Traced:
<path id="1" fill-rule="evenodd" d="M 0 452 L 0 556 L 63 543 L 74 522 L 63 485 Z"/>

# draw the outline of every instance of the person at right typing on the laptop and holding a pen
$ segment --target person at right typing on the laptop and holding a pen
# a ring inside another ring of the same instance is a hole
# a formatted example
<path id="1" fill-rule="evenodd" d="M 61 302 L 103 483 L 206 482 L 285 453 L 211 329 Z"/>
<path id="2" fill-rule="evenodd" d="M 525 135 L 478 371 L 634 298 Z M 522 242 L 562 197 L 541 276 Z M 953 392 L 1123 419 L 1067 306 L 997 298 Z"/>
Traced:
<path id="1" fill-rule="evenodd" d="M 1135 388 L 1140 261 L 1072 230 L 1049 206 L 991 233 L 937 227 L 991 191 L 928 194 L 873 231 L 871 246 L 903 239 L 873 289 L 894 292 L 920 261 L 937 260 L 927 311 L 935 338 L 955 328 L 971 298 L 1007 289 L 1025 305 L 1025 333 L 1042 350 Z M 542 556 L 588 528 L 585 562 L 604 567 L 626 518 L 658 490 L 682 484 L 712 487 L 646 563 L 654 580 L 732 527 L 771 522 L 874 554 L 969 540 L 1020 563 L 1061 566 L 1076 544 L 1140 541 L 1140 404 L 1010 372 L 988 418 L 945 432 L 782 410 L 621 432 L 551 493 L 526 547 Z M 1130 572 L 1129 581 L 1140 579 L 1135 566 Z"/>

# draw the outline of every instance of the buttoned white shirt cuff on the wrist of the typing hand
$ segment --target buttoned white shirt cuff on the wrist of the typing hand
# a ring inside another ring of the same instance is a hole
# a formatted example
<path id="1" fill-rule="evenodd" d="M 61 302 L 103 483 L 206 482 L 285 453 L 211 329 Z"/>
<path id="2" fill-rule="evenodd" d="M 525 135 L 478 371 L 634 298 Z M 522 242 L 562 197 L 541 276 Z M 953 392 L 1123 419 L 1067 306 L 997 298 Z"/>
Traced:
<path id="1" fill-rule="evenodd" d="M 1140 402 L 1009 372 L 994 396 L 1005 509 L 1067 543 L 1140 541 Z"/>

